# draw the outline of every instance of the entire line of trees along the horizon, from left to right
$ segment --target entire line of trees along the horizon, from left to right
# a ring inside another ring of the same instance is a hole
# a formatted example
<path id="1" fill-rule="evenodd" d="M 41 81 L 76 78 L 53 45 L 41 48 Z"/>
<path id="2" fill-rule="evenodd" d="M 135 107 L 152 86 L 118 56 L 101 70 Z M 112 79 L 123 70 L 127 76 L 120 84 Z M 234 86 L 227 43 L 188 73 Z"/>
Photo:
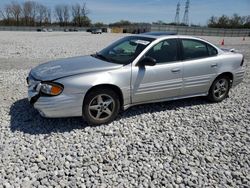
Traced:
<path id="1" fill-rule="evenodd" d="M 28 0 L 24 3 L 12 1 L 0 8 L 0 25 L 4 26 L 74 26 L 74 27 L 103 27 L 102 22 L 91 24 L 88 17 L 90 11 L 83 1 L 82 3 L 58 4 L 54 8 L 43 5 L 36 1 Z M 147 23 L 132 23 L 127 20 L 111 23 L 109 26 L 120 27 L 124 25 L 138 25 Z M 176 25 L 175 23 L 164 23 L 163 21 L 153 24 Z M 185 26 L 185 25 L 183 25 Z M 192 25 L 196 26 L 196 25 Z M 239 16 L 234 14 L 229 17 L 212 16 L 208 20 L 208 27 L 212 28 L 250 28 L 250 15 Z"/>

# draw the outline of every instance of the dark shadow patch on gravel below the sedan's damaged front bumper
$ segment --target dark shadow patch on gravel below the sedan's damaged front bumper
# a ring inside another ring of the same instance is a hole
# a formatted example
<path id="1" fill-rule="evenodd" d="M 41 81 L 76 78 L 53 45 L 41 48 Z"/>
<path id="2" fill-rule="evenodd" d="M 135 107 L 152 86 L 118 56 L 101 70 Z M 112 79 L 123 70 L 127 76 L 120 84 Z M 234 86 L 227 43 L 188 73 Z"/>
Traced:
<path id="1" fill-rule="evenodd" d="M 20 131 L 31 135 L 71 132 L 88 126 L 81 117 L 43 118 L 29 104 L 27 98 L 18 100 L 12 104 L 10 116 L 10 129 L 12 132 Z"/>

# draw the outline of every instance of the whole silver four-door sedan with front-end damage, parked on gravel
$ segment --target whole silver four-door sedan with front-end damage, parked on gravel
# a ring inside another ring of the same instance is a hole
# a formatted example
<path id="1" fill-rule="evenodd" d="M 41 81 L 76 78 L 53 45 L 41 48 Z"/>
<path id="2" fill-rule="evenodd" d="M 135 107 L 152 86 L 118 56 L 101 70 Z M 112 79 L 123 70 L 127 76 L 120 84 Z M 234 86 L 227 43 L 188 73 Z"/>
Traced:
<path id="1" fill-rule="evenodd" d="M 32 69 L 29 101 L 48 118 L 83 116 L 106 124 L 144 103 L 207 96 L 221 102 L 244 77 L 242 54 L 195 37 L 147 33 L 102 51 Z"/>

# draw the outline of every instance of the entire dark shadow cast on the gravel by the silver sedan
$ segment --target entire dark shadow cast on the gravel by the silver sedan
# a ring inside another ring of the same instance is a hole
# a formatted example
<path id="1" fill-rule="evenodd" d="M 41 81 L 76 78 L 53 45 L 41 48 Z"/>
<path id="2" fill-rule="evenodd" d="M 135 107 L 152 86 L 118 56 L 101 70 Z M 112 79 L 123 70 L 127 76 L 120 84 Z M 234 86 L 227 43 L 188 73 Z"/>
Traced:
<path id="1" fill-rule="evenodd" d="M 121 112 L 116 121 L 144 113 L 176 110 L 207 103 L 208 101 L 205 100 L 204 97 L 195 97 L 169 102 L 144 104 L 131 107 Z M 31 107 L 27 99 L 21 99 L 14 102 L 10 108 L 10 116 L 10 129 L 12 132 L 20 131 L 31 135 L 64 133 L 88 127 L 88 124 L 81 117 L 58 119 L 43 118 L 37 110 Z"/>

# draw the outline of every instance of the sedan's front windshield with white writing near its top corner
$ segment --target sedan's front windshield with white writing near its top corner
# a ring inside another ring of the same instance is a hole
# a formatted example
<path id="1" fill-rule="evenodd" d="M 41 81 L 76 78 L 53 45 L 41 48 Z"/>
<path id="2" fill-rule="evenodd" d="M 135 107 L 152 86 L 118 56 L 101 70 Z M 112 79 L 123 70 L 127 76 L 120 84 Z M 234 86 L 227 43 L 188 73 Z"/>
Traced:
<path id="1" fill-rule="evenodd" d="M 124 37 L 111 44 L 94 57 L 118 64 L 129 64 L 153 41 L 141 36 Z"/>

